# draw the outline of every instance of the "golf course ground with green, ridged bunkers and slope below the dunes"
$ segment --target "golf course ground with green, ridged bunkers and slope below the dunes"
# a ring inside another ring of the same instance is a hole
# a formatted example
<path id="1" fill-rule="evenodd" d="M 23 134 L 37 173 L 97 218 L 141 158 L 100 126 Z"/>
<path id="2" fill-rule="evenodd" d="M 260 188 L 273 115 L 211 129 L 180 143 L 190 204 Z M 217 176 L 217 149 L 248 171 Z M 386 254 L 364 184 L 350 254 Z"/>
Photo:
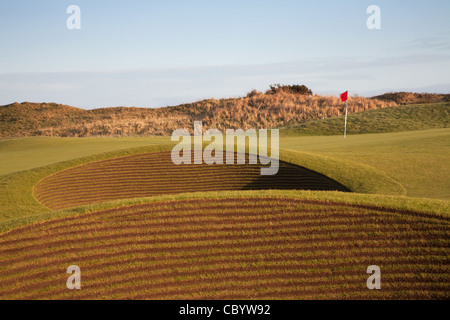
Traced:
<path id="1" fill-rule="evenodd" d="M 0 298 L 448 299 L 450 106 L 426 106 L 282 127 L 273 176 L 175 165 L 167 136 L 2 138 Z"/>

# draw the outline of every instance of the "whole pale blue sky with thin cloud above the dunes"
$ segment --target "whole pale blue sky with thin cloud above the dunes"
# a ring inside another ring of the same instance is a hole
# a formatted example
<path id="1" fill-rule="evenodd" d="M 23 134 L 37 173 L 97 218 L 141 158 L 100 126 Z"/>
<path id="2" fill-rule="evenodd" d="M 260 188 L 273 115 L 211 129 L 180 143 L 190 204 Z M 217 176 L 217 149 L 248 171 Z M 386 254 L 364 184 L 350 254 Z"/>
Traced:
<path id="1" fill-rule="evenodd" d="M 450 93 L 449 14 L 448 0 L 2 0 L 0 105 L 162 107 L 274 83 Z"/>

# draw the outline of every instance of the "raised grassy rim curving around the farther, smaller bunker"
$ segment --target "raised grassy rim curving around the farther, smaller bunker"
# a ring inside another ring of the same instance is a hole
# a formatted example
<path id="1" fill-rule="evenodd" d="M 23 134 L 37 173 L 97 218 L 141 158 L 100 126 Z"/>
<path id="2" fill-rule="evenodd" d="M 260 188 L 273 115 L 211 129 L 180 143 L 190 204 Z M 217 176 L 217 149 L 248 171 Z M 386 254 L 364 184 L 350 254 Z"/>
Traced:
<path id="1" fill-rule="evenodd" d="M 101 161 L 149 152 L 168 151 L 171 149 L 172 145 L 160 145 L 119 150 L 110 153 L 104 153 L 101 155 L 61 162 L 0 177 L 0 193 L 4 195 L 0 198 L 0 221 L 39 215 L 48 212 L 50 209 L 40 204 L 36 200 L 36 198 L 34 197 L 35 194 L 32 192 L 32 190 L 39 181 L 59 171 L 91 163 L 94 161 Z M 351 162 L 343 162 L 329 157 L 324 158 L 317 155 L 302 154 L 298 152 L 283 151 L 280 153 L 280 158 L 281 160 L 286 159 L 287 162 L 290 162 L 292 164 L 300 165 L 306 168 L 312 168 L 312 170 L 318 172 L 320 172 L 320 170 L 326 170 L 326 175 L 328 177 L 334 179 L 337 182 L 340 182 L 340 179 L 342 179 L 344 182 L 342 184 L 353 192 L 381 192 L 393 195 L 401 195 L 404 193 L 404 189 L 401 185 L 387 177 L 382 172 L 368 166 Z M 160 173 L 164 174 L 164 172 Z M 204 172 L 199 172 L 199 174 L 204 174 Z M 261 179 L 261 177 L 258 176 L 258 179 Z M 348 186 L 346 185 L 347 183 Z M 218 182 L 218 184 L 220 185 L 220 182 Z M 177 187 L 177 185 L 173 185 L 173 187 L 175 188 Z M 142 195 L 149 194 L 135 194 L 134 196 L 138 197 Z M 117 198 L 120 198 L 120 196 Z M 104 200 L 112 199 L 113 198 L 108 198 Z M 73 205 L 77 205 L 77 203 L 73 203 Z"/>

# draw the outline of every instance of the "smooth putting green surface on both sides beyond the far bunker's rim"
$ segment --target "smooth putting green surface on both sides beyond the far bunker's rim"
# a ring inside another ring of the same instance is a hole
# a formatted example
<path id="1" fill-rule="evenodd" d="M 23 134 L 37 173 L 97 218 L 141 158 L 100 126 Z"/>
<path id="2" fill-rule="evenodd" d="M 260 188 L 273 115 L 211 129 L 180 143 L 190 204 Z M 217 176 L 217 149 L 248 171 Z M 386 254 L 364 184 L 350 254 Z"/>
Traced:
<path id="1" fill-rule="evenodd" d="M 389 134 L 281 137 L 281 147 L 352 161 L 378 169 L 406 188 L 407 195 L 450 199 L 450 129 Z M 169 138 L 22 138 L 0 141 L 0 174 Z M 325 168 L 333 170 L 332 168 Z M 317 170 L 317 169 L 314 169 Z M 327 174 L 324 171 L 320 171 Z M 335 177 L 332 177 L 336 179 Z M 388 192 L 385 192 L 388 193 Z"/>

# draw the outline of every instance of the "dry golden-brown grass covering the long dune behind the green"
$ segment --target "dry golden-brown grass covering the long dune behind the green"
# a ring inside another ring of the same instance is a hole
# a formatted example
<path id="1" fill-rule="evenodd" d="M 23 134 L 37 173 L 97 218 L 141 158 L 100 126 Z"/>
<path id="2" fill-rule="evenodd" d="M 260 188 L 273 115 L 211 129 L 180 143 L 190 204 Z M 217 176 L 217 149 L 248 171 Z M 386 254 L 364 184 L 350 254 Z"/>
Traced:
<path id="1" fill-rule="evenodd" d="M 394 106 L 391 101 L 354 97 L 349 111 Z M 245 98 L 209 99 L 165 108 L 104 108 L 83 110 L 55 103 L 14 103 L 0 107 L 0 137 L 17 136 L 134 136 L 169 135 L 192 130 L 194 120 L 204 128 L 259 129 L 295 124 L 343 114 L 338 97 L 279 92 L 254 93 Z"/>

